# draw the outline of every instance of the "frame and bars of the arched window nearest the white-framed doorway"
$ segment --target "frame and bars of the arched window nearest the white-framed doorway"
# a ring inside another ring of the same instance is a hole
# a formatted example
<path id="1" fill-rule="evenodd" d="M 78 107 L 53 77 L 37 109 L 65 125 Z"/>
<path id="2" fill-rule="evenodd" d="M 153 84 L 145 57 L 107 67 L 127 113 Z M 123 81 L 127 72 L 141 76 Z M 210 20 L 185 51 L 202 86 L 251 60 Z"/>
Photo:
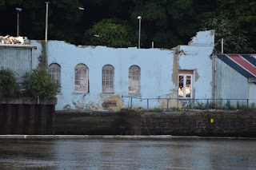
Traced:
<path id="1" fill-rule="evenodd" d="M 138 70 L 138 74 L 135 75 L 134 71 L 136 72 L 136 70 Z M 130 95 L 139 95 L 141 93 L 141 68 L 138 65 L 131 65 L 128 71 L 128 93 Z M 130 75 L 131 72 L 132 74 Z M 136 80 L 134 81 L 134 77 L 138 78 L 138 83 L 135 82 Z M 138 89 L 138 92 L 132 92 L 133 89 Z"/>

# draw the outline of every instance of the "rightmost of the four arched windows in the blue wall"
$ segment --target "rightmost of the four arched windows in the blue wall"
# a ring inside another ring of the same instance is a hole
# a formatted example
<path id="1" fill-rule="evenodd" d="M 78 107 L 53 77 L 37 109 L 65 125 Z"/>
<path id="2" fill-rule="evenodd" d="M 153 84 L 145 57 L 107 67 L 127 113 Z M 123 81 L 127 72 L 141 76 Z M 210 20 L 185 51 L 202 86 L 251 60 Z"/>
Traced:
<path id="1" fill-rule="evenodd" d="M 138 65 L 129 68 L 129 93 L 140 93 L 141 89 L 141 69 Z"/>

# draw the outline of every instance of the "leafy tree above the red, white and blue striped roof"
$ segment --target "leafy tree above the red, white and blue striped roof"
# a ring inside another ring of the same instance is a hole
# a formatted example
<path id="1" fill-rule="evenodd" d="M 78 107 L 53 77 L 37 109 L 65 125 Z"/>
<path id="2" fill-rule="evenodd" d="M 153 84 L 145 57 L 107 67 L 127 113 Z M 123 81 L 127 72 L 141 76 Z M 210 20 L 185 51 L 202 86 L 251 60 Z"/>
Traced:
<path id="1" fill-rule="evenodd" d="M 256 2 L 254 0 L 217 0 L 218 6 L 203 22 L 203 28 L 216 30 L 224 38 L 225 53 L 253 53 L 256 45 Z M 211 23 L 213 22 L 213 23 Z M 207 26 L 206 26 L 207 25 Z M 219 50 L 219 42 L 216 42 Z"/>

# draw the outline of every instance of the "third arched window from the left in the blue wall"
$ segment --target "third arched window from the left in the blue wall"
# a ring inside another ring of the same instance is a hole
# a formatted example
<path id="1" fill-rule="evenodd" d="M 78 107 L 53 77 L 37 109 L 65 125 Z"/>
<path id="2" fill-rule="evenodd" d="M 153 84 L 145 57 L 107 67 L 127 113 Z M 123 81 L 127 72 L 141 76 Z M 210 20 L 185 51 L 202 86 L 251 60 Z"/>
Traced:
<path id="1" fill-rule="evenodd" d="M 102 93 L 114 93 L 114 66 L 102 67 Z"/>

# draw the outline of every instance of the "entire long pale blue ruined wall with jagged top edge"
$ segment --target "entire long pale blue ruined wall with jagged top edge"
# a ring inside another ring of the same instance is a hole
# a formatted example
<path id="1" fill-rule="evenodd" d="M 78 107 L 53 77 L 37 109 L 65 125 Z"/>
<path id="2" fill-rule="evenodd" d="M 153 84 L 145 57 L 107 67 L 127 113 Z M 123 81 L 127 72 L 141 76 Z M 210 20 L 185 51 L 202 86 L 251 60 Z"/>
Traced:
<path id="1" fill-rule="evenodd" d="M 42 56 L 42 43 L 35 53 Z M 76 46 L 66 42 L 49 41 L 48 64 L 61 66 L 62 91 L 58 94 L 57 110 L 88 109 L 114 110 L 130 106 L 128 75 L 131 65 L 141 69 L 139 98 L 150 100 L 150 108 L 166 108 L 166 101 L 158 98 L 178 98 L 178 70 L 193 70 L 193 89 L 196 98 L 212 97 L 212 59 L 214 31 L 198 32 L 190 45 L 173 49 L 114 49 L 105 46 Z M 38 62 L 40 62 L 38 60 Z M 89 68 L 89 93 L 74 93 L 74 68 L 83 63 Z M 114 66 L 114 93 L 102 93 L 102 67 Z M 36 65 L 36 63 L 35 63 Z M 134 99 L 133 107 L 146 108 L 146 100 Z M 177 106 L 170 101 L 169 106 Z"/>

